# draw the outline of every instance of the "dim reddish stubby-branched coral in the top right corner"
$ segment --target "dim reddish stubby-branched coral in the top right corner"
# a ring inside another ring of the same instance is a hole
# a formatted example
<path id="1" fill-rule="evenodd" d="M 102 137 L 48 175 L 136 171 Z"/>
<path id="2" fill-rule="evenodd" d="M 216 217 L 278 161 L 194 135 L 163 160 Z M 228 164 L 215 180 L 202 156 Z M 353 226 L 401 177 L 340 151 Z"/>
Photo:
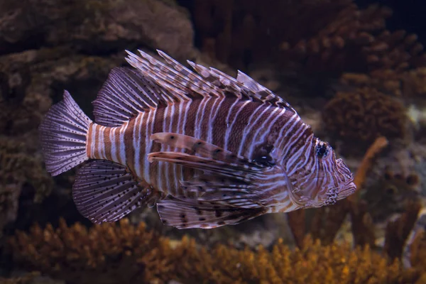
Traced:
<path id="1" fill-rule="evenodd" d="M 359 9 L 352 1 L 327 7 L 327 22 L 319 31 L 301 34 L 297 43 L 282 44 L 285 56 L 305 60 L 311 71 L 407 70 L 425 63 L 417 36 L 386 30 L 392 11 L 377 5 Z"/>

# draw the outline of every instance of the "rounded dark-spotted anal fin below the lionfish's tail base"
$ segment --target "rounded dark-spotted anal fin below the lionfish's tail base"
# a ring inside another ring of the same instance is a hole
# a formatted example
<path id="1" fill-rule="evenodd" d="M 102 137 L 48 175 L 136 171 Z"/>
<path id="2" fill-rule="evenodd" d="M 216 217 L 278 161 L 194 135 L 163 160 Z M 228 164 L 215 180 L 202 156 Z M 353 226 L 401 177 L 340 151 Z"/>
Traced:
<path id="1" fill-rule="evenodd" d="M 155 198 L 140 187 L 124 165 L 93 160 L 78 170 L 72 197 L 78 211 L 94 223 L 115 222 Z"/>

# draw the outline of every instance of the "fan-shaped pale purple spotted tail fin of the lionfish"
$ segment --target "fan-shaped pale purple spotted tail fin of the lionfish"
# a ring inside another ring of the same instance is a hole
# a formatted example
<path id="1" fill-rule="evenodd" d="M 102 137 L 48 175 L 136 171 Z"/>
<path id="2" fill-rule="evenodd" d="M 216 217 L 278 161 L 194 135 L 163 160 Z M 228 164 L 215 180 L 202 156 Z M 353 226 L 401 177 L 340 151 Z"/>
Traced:
<path id="1" fill-rule="evenodd" d="M 87 160 L 87 132 L 92 120 L 64 92 L 62 102 L 50 108 L 40 124 L 40 142 L 46 169 L 55 176 Z"/>

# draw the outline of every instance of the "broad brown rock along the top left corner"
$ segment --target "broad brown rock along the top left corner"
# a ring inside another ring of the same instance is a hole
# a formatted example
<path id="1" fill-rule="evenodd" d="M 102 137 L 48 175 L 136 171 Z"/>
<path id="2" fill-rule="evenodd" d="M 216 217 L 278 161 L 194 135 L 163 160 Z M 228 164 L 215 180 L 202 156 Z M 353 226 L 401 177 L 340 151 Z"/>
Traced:
<path id="1" fill-rule="evenodd" d="M 0 54 L 43 45 L 71 45 L 92 54 L 145 45 L 186 59 L 192 50 L 190 18 L 170 1 L 3 2 Z"/>

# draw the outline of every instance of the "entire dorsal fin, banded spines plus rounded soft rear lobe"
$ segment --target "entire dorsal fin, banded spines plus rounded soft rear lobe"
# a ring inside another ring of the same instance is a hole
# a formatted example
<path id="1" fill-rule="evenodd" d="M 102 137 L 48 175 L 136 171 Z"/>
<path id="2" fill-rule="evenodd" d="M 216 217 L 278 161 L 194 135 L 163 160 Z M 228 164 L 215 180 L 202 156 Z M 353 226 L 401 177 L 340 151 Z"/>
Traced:
<path id="1" fill-rule="evenodd" d="M 127 62 L 136 69 L 116 67 L 111 70 L 93 102 L 98 124 L 121 126 L 147 109 L 209 96 L 235 96 L 295 112 L 287 102 L 241 71 L 235 79 L 212 67 L 188 61 L 197 74 L 160 50 L 158 54 L 165 63 L 138 51 L 141 56 L 126 50 Z"/>

